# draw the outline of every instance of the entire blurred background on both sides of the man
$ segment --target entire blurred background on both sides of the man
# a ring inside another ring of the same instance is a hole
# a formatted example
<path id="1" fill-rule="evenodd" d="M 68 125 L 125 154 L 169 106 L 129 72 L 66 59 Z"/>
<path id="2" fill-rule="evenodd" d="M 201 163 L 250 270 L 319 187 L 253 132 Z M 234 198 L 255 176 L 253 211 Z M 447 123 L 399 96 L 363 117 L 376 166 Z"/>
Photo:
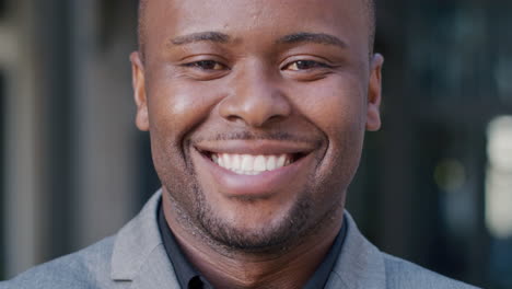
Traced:
<path id="1" fill-rule="evenodd" d="M 383 129 L 348 208 L 383 251 L 512 288 L 512 1 L 387 0 Z M 137 0 L 0 0 L 0 279 L 115 233 L 159 187 Z"/>

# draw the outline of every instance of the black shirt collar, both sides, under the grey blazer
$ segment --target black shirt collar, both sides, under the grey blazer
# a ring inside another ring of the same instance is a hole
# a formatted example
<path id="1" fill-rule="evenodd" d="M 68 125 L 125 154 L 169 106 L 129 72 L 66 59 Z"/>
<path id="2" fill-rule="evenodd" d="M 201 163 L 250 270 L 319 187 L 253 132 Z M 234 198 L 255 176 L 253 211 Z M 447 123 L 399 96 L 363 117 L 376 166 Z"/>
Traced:
<path id="1" fill-rule="evenodd" d="M 173 232 L 165 221 L 162 206 L 159 207 L 159 229 L 163 236 L 163 244 L 171 263 L 173 264 L 174 271 L 178 279 L 179 286 L 183 289 L 213 289 L 208 280 L 197 270 L 194 265 L 187 259 L 182 252 L 179 244 L 174 238 Z M 338 259 L 341 247 L 344 246 L 345 236 L 347 234 L 347 226 L 344 226 L 336 236 L 333 246 L 325 256 L 322 264 L 316 269 L 315 274 L 307 280 L 303 289 L 319 289 L 324 288 L 330 271 L 333 270 L 336 261 Z"/>

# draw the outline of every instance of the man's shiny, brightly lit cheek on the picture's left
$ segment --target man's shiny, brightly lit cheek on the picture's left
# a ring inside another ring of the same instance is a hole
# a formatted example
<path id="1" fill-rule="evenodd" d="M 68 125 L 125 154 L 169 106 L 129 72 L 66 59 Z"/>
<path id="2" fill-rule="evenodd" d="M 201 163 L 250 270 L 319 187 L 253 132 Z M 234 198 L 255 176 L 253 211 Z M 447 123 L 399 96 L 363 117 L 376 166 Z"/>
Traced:
<path id="1" fill-rule="evenodd" d="M 168 184 L 189 175 L 187 137 L 210 115 L 217 100 L 212 91 L 171 77 L 153 77 L 148 85 L 153 162 L 161 180 L 176 178 Z"/>

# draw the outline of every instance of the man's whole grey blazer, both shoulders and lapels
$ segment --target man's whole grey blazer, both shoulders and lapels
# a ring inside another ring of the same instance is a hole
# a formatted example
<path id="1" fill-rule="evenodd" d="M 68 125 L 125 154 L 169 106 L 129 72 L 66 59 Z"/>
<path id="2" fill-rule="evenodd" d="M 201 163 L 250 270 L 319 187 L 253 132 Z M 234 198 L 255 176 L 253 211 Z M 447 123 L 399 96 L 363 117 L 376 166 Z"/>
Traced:
<path id="1" fill-rule="evenodd" d="M 156 223 L 161 193 L 116 235 L 34 267 L 0 289 L 179 289 Z M 380 252 L 346 213 L 347 236 L 326 288 L 475 288 Z"/>

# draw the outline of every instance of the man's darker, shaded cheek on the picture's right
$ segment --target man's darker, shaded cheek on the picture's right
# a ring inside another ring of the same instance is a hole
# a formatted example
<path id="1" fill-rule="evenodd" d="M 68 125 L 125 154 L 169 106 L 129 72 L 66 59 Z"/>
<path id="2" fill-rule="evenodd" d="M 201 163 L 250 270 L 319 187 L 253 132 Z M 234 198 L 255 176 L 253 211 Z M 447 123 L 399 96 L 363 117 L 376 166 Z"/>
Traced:
<path id="1" fill-rule="evenodd" d="M 358 167 L 365 124 L 365 93 L 357 78 L 324 79 L 296 91 L 301 113 L 328 140 L 316 177 L 345 189 Z"/>

